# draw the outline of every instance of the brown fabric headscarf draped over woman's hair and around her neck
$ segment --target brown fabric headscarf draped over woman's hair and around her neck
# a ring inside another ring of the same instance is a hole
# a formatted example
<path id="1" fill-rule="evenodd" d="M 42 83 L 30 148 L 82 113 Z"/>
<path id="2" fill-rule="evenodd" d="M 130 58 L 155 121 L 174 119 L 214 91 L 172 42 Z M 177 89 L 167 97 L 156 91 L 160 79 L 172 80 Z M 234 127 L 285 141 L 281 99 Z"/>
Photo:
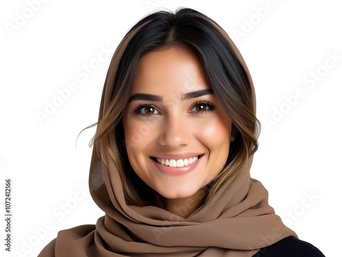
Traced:
<path id="1" fill-rule="evenodd" d="M 228 40 L 239 62 L 250 73 L 237 47 L 226 32 L 211 21 Z M 111 60 L 99 119 L 112 100 L 113 84 L 122 53 L 142 27 L 131 30 L 120 42 Z M 255 107 L 255 97 L 253 97 Z M 255 109 L 255 108 L 254 108 Z M 96 225 L 81 225 L 59 232 L 38 257 L 75 256 L 252 256 L 260 248 L 287 236 L 296 236 L 268 204 L 268 193 L 261 182 L 250 178 L 252 157 L 231 180 L 186 219 L 156 206 L 128 206 L 116 165 L 107 158 L 101 164 L 94 147 L 90 167 L 90 191 L 105 211 Z"/>

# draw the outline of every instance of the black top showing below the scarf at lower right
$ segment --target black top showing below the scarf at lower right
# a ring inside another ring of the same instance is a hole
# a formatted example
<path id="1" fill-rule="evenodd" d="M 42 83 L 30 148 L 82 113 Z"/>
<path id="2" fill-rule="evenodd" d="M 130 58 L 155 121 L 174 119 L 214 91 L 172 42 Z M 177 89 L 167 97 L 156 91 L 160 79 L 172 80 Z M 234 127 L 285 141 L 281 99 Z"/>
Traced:
<path id="1" fill-rule="evenodd" d="M 324 254 L 311 243 L 289 236 L 273 245 L 261 248 L 253 257 L 324 257 Z"/>

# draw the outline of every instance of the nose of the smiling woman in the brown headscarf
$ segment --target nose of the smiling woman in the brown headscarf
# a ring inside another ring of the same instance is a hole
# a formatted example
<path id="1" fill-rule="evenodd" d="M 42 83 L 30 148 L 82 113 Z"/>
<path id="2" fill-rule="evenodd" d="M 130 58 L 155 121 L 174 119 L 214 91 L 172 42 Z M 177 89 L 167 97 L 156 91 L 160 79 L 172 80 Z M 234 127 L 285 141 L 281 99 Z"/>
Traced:
<path id="1" fill-rule="evenodd" d="M 190 140 L 189 121 L 182 118 L 181 115 L 172 114 L 164 119 L 161 134 L 159 136 L 159 144 L 177 148 L 182 145 L 187 145 Z"/>

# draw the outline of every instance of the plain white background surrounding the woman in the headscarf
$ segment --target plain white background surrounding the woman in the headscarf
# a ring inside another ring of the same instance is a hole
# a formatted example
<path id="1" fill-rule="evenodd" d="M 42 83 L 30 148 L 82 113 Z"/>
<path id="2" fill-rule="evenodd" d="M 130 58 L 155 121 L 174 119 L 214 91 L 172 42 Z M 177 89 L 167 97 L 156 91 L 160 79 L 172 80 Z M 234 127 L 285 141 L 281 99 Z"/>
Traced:
<path id="1" fill-rule="evenodd" d="M 0 6 L 0 202 L 5 178 L 12 178 L 13 214 L 12 254 L 5 252 L 2 221 L 1 256 L 37 256 L 59 230 L 94 224 L 103 215 L 88 192 L 94 129 L 77 140 L 97 121 L 110 60 L 101 51 L 111 56 L 154 8 L 179 6 L 217 21 L 248 64 L 263 123 L 252 177 L 302 240 L 326 256 L 341 255 L 339 1 L 28 0 Z M 74 91 L 58 102 L 57 90 L 73 82 Z M 291 98 L 298 90 L 302 98 Z M 36 113 L 54 99 L 60 106 L 40 122 Z M 4 204 L 0 208 L 4 213 Z"/>

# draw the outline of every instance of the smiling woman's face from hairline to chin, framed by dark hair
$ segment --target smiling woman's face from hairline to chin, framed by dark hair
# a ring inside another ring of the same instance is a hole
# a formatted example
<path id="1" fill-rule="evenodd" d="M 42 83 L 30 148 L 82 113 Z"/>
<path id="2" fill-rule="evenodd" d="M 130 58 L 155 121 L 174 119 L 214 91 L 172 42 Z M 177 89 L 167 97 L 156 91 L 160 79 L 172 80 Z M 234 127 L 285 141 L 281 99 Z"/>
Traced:
<path id="1" fill-rule="evenodd" d="M 140 58 L 123 123 L 131 167 L 168 199 L 191 197 L 226 163 L 231 119 L 183 47 Z"/>

